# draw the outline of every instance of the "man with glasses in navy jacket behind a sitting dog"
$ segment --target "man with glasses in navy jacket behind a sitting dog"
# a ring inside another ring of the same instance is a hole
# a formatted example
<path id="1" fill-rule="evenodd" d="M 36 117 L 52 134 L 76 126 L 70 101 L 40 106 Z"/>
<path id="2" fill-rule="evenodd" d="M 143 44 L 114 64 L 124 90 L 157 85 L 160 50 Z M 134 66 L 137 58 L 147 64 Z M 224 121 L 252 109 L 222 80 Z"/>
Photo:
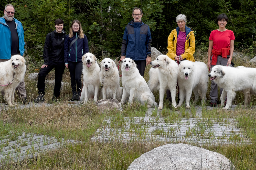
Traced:
<path id="1" fill-rule="evenodd" d="M 146 65 L 151 62 L 151 32 L 147 24 L 143 23 L 142 10 L 133 8 L 132 17 L 124 30 L 123 42 L 121 47 L 121 59 L 126 57 L 133 59 L 142 76 Z"/>

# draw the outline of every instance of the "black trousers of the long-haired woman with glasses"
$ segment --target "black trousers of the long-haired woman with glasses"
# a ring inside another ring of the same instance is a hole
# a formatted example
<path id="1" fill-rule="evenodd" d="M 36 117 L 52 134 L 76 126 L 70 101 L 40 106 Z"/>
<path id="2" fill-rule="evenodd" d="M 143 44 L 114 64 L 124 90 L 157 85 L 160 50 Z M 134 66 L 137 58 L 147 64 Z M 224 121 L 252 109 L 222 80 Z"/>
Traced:
<path id="1" fill-rule="evenodd" d="M 72 91 L 77 91 L 78 93 L 81 92 L 82 89 L 82 69 L 83 69 L 83 62 L 68 62 L 68 69 L 70 73 L 70 82 Z"/>

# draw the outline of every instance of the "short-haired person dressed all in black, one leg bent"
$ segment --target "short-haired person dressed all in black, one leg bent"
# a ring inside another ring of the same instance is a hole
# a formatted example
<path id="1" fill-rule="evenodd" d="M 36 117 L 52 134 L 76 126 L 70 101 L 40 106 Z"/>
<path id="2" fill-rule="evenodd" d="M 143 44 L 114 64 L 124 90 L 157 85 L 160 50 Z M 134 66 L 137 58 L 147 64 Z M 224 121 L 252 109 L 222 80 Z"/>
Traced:
<path id="1" fill-rule="evenodd" d="M 45 39 L 44 64 L 38 73 L 38 96 L 34 100 L 36 103 L 45 101 L 45 77 L 53 68 L 55 68 L 55 85 L 52 100 L 56 101 L 60 95 L 61 80 L 65 70 L 63 48 L 67 34 L 63 31 L 62 19 L 56 19 L 54 23 L 56 29 L 48 33 Z"/>

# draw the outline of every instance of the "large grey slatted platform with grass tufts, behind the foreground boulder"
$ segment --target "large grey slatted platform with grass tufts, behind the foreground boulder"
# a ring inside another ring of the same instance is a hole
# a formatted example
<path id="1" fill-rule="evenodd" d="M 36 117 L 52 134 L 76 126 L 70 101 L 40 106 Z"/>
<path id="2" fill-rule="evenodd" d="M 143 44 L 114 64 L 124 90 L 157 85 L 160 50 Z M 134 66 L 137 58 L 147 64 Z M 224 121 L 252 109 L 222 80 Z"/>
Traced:
<path id="1" fill-rule="evenodd" d="M 234 110 L 236 106 L 231 108 Z M 212 107 L 206 109 L 212 110 Z M 236 127 L 234 119 L 208 120 L 201 118 L 201 107 L 196 107 L 194 118 L 168 120 L 161 117 L 161 110 L 152 117 L 154 109 L 148 109 L 145 117 L 107 117 L 97 129 L 93 141 L 168 141 L 190 144 L 231 144 L 249 141 Z M 170 111 L 177 113 L 179 111 Z M 190 110 L 186 110 L 190 112 Z M 155 114 L 155 113 L 154 113 Z"/>

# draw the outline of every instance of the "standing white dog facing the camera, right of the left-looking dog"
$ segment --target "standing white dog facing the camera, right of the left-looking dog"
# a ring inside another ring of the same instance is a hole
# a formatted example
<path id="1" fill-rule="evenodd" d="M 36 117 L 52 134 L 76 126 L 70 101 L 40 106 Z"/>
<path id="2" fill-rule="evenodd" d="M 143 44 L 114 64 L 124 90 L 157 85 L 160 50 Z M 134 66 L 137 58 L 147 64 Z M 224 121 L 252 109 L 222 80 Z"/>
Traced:
<path id="1" fill-rule="evenodd" d="M 181 61 L 178 67 L 178 85 L 179 85 L 179 103 L 180 107 L 186 97 L 186 108 L 190 109 L 189 101 L 192 90 L 195 94 L 195 101 L 198 100 L 199 92 L 201 94 L 202 103 L 206 100 L 208 69 L 205 63 L 189 60 Z"/>

